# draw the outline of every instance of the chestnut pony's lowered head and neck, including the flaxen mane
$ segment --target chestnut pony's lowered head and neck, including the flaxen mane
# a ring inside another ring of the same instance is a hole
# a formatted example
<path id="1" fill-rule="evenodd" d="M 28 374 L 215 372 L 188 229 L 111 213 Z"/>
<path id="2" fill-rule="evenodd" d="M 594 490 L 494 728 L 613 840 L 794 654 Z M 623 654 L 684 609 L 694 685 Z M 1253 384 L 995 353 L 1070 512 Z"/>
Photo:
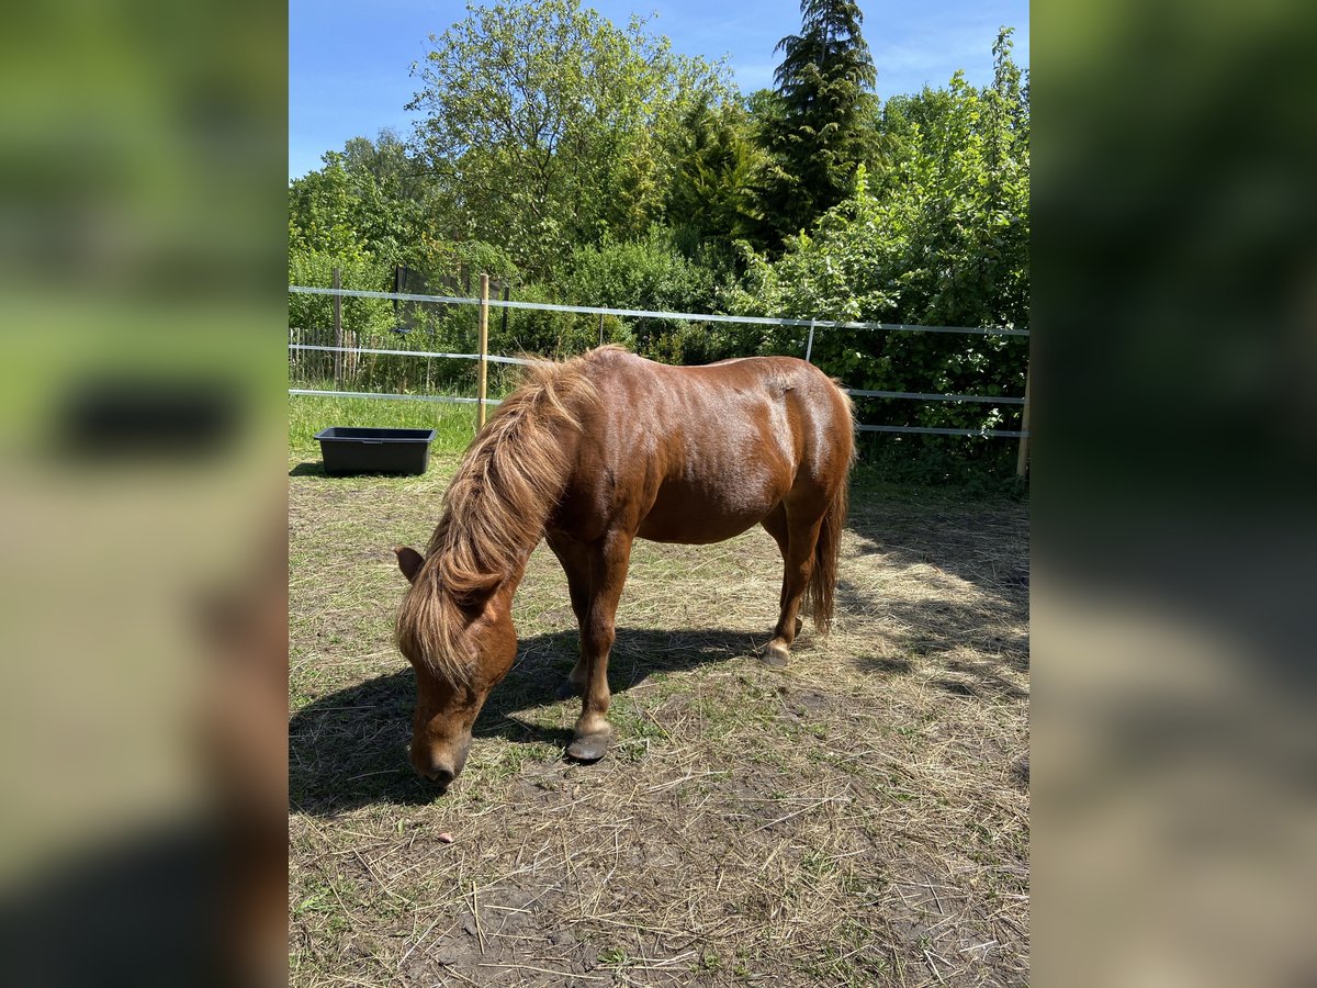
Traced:
<path id="1" fill-rule="evenodd" d="M 411 759 L 446 785 L 471 727 L 516 659 L 512 594 L 566 483 L 579 408 L 598 402 L 583 357 L 525 368 L 462 456 L 425 556 L 395 549 L 411 582 L 398 647 L 416 669 Z"/>

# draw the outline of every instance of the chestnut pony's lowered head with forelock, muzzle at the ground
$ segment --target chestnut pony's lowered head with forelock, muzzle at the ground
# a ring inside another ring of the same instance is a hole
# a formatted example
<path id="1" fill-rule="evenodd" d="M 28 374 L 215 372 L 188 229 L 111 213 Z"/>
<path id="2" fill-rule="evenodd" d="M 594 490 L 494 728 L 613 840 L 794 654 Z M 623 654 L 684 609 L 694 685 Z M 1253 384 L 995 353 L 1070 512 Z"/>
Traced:
<path id="1" fill-rule="evenodd" d="M 466 764 L 485 700 L 516 657 L 511 602 L 498 588 L 458 598 L 416 549 L 394 552 L 411 584 L 398 613 L 398 647 L 416 671 L 411 763 L 446 786 Z"/>

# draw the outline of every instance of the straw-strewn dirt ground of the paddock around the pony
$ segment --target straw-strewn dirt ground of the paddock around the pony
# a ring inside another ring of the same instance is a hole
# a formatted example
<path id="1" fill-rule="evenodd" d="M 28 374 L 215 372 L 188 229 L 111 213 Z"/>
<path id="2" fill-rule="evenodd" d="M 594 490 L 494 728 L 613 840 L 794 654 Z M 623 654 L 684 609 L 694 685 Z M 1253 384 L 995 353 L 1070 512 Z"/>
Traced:
<path id="1" fill-rule="evenodd" d="M 595 765 L 562 756 L 577 631 L 541 544 L 516 665 L 436 798 L 390 547 L 424 544 L 454 465 L 290 462 L 292 984 L 1029 983 L 1022 505 L 856 490 L 834 634 L 786 669 L 755 657 L 765 532 L 637 541 Z"/>

